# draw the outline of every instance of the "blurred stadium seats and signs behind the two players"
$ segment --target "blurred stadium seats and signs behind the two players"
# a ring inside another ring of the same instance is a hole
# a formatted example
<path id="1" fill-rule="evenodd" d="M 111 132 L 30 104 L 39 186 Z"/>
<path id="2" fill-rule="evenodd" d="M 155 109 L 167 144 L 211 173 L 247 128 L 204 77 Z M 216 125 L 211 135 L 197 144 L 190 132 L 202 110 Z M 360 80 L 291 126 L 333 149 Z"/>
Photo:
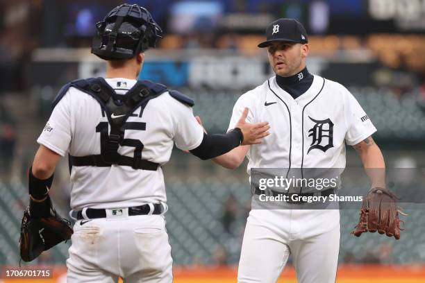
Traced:
<path id="1" fill-rule="evenodd" d="M 50 103 L 69 80 L 103 75 L 104 65 L 88 47 L 94 23 L 120 3 L 0 2 L 1 265 L 19 261 L 26 172 Z M 237 98 L 273 75 L 265 51 L 256 47 L 265 26 L 278 17 L 294 17 L 309 34 L 308 69 L 346 85 L 358 98 L 378 128 L 374 138 L 388 166 L 424 167 L 425 0 L 128 3 L 147 8 L 165 31 L 159 49 L 147 51 L 140 77 L 194 98 L 194 112 L 209 132 L 224 132 Z M 351 148 L 347 155 L 347 166 L 361 165 Z M 245 169 L 228 171 L 174 151 L 165 176 L 176 282 L 235 282 L 249 212 Z M 63 160 L 51 190 L 63 215 L 69 211 L 68 178 Z M 406 210 L 410 216 L 399 241 L 378 234 L 352 237 L 358 212 L 341 211 L 337 282 L 425 282 L 424 207 Z M 55 267 L 55 279 L 46 282 L 61 282 L 67 248 L 68 243 L 61 244 L 31 263 Z M 279 282 L 296 282 L 290 264 Z"/>

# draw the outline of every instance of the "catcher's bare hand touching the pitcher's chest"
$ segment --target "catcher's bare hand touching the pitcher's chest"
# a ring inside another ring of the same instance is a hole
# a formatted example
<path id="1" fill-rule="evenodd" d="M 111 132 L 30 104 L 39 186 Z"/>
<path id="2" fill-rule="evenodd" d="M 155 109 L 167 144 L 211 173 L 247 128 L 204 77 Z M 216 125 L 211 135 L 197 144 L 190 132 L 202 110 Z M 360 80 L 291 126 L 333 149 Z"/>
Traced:
<path id="1" fill-rule="evenodd" d="M 235 128 L 240 128 L 242 135 L 244 135 L 244 141 L 242 141 L 242 146 L 247 146 L 249 144 L 261 144 L 261 139 L 270 135 L 269 133 L 269 122 L 260 122 L 260 123 L 248 123 L 245 121 L 248 116 L 248 108 L 244 109 L 242 116 L 240 117 Z"/>

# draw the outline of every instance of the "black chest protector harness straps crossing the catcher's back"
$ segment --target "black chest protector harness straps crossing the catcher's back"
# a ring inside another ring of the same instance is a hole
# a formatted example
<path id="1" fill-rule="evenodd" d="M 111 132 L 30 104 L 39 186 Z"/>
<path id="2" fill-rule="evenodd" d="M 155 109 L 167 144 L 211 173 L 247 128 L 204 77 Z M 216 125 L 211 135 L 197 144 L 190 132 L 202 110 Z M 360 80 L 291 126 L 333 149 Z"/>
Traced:
<path id="1" fill-rule="evenodd" d="M 73 87 L 93 96 L 101 105 L 110 125 L 110 134 L 101 137 L 101 154 L 87 156 L 69 155 L 72 166 L 106 167 L 112 164 L 131 166 L 133 169 L 156 171 L 159 164 L 142 159 L 143 145 L 134 139 L 124 139 L 125 123 L 128 117 L 139 107 L 143 111 L 148 101 L 163 94 L 167 88 L 164 85 L 150 85 L 150 82 L 138 82 L 128 90 L 127 94 L 119 95 L 103 78 L 77 80 Z M 101 133 L 102 135 L 102 133 Z M 119 146 L 135 147 L 134 156 L 119 155 Z"/>

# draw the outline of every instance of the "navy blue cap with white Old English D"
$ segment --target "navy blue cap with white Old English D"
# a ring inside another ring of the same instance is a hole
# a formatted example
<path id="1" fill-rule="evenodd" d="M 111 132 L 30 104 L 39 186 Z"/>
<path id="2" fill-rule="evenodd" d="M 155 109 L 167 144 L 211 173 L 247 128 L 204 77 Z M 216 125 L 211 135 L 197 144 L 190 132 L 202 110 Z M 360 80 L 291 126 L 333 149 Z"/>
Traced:
<path id="1" fill-rule="evenodd" d="M 258 47 L 263 48 L 270 45 L 276 40 L 286 42 L 308 43 L 306 28 L 296 19 L 278 19 L 266 28 L 265 42 L 258 44 Z"/>

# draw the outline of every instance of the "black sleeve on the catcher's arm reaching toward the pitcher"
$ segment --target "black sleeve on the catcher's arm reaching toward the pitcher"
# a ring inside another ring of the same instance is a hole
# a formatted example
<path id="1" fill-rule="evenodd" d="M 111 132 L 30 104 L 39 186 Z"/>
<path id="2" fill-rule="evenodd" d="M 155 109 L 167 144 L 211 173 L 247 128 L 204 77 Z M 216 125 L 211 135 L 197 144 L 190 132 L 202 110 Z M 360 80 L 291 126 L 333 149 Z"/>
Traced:
<path id="1" fill-rule="evenodd" d="M 240 146 L 243 139 L 244 136 L 240 128 L 235 128 L 226 134 L 207 135 L 204 133 L 201 144 L 192 149 L 190 153 L 201 158 L 201 160 L 208 160 Z"/>

